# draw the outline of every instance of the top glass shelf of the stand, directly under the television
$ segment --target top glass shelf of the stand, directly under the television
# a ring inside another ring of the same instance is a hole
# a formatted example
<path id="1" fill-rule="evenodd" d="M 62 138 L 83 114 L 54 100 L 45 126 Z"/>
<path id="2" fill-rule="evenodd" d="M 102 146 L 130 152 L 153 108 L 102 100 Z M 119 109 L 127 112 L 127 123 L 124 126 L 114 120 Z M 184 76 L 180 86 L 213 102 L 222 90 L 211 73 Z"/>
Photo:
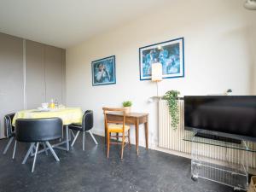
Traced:
<path id="1" fill-rule="evenodd" d="M 234 148 L 238 150 L 245 150 L 248 152 L 256 152 L 256 148 L 248 147 L 248 142 L 240 141 L 241 143 L 231 143 L 230 140 L 224 139 L 223 141 L 216 140 L 215 136 L 211 137 L 197 137 L 196 131 L 184 131 L 183 141 L 193 142 L 193 143 L 202 143 L 212 146 L 224 147 L 224 148 Z M 200 133 L 207 134 L 207 131 L 201 131 Z M 209 134 L 210 135 L 210 134 Z"/>

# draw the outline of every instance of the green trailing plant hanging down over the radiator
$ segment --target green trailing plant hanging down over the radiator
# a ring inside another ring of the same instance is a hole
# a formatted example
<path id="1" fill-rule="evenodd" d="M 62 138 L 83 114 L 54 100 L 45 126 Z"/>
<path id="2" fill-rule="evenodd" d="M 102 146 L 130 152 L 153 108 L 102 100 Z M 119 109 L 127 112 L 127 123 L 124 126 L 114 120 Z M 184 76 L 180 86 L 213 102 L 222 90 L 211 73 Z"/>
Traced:
<path id="1" fill-rule="evenodd" d="M 169 113 L 171 115 L 172 121 L 172 129 L 176 130 L 177 125 L 179 123 L 179 111 L 177 106 L 177 96 L 179 95 L 179 91 L 177 90 L 169 90 L 166 92 L 166 95 L 163 98 L 167 101 L 169 107 Z"/>

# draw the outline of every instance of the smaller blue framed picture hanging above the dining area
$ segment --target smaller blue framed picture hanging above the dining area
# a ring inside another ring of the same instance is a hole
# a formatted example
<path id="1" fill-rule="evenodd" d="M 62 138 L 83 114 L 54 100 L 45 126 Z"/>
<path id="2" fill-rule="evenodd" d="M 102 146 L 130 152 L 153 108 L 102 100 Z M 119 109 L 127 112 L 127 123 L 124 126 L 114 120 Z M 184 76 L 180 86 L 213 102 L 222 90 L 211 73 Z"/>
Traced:
<path id="1" fill-rule="evenodd" d="M 92 85 L 115 84 L 115 56 L 91 62 Z"/>

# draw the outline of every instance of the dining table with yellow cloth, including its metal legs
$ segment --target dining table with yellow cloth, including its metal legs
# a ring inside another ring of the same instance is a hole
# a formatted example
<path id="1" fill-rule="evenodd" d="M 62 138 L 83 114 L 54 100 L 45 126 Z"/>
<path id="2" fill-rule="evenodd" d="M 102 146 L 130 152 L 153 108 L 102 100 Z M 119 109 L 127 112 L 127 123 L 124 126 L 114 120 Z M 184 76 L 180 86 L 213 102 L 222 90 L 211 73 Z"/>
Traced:
<path id="1" fill-rule="evenodd" d="M 66 130 L 66 138 L 60 143 L 55 143 L 52 147 L 69 151 L 70 133 L 68 131 L 68 125 L 81 124 L 82 117 L 83 111 L 81 108 L 29 109 L 15 113 L 12 125 L 15 126 L 16 119 L 60 118 L 62 120 L 63 129 Z M 61 147 L 63 144 L 66 144 L 66 148 Z M 44 150 L 39 152 L 44 152 Z"/>

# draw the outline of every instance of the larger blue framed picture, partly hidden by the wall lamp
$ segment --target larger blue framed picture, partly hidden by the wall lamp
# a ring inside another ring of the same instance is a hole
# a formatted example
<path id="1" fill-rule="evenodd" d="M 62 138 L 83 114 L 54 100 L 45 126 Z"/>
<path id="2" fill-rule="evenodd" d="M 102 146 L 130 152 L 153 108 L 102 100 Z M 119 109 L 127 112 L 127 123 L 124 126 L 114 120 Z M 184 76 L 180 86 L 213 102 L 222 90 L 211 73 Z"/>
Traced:
<path id="1" fill-rule="evenodd" d="M 151 79 L 151 66 L 160 62 L 163 79 L 184 77 L 184 39 L 176 38 L 139 49 L 140 79 Z"/>

